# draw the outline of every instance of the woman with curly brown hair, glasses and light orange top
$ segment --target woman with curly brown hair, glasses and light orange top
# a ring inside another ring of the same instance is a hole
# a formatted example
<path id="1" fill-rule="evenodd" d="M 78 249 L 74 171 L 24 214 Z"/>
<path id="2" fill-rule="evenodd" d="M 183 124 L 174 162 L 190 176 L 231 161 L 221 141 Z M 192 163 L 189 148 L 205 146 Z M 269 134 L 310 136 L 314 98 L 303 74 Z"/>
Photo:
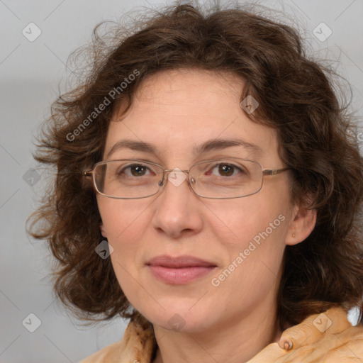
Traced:
<path id="1" fill-rule="evenodd" d="M 363 160 L 328 70 L 239 9 L 139 26 L 95 38 L 36 156 L 55 291 L 130 318 L 83 362 L 361 362 Z"/>

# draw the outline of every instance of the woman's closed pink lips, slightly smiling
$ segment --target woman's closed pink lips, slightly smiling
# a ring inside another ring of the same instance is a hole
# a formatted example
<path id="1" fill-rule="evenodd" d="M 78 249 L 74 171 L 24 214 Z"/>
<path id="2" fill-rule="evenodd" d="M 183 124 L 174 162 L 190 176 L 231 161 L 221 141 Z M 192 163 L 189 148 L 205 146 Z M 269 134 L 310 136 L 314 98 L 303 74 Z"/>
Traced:
<path id="1" fill-rule="evenodd" d="M 168 284 L 188 284 L 216 268 L 213 262 L 197 257 L 166 255 L 150 259 L 147 266 L 155 277 Z"/>

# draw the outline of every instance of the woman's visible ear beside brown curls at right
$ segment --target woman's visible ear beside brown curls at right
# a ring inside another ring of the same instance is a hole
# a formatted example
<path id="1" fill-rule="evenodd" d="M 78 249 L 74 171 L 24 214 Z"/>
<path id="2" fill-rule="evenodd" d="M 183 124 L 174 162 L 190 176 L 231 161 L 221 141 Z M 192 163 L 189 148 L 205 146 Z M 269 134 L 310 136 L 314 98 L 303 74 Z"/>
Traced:
<path id="1" fill-rule="evenodd" d="M 286 245 L 297 245 L 305 240 L 315 228 L 316 211 L 304 206 L 294 206 L 291 223 L 286 235 Z"/>

